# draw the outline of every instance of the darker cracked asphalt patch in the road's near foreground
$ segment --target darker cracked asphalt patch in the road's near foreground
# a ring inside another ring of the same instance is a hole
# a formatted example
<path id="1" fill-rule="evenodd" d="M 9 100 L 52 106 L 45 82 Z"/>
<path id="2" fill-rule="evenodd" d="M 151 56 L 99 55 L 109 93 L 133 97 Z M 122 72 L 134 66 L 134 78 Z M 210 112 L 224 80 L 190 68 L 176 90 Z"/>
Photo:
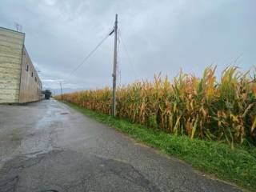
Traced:
<path id="1" fill-rule="evenodd" d="M 114 178 L 117 183 L 113 181 L 110 185 L 108 178 Z M 6 162 L 0 171 L 0 192 L 105 191 L 106 188 L 114 191 L 119 182 L 126 187 L 123 191 L 160 191 L 128 163 L 72 150 L 20 155 Z"/>

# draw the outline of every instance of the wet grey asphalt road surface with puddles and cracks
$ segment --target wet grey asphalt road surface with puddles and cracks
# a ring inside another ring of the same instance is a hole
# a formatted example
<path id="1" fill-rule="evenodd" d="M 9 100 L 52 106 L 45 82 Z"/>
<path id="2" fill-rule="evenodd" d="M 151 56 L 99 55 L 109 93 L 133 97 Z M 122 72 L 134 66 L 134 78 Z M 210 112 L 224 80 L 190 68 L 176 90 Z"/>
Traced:
<path id="1" fill-rule="evenodd" d="M 241 191 L 54 101 L 0 105 L 0 192 Z"/>

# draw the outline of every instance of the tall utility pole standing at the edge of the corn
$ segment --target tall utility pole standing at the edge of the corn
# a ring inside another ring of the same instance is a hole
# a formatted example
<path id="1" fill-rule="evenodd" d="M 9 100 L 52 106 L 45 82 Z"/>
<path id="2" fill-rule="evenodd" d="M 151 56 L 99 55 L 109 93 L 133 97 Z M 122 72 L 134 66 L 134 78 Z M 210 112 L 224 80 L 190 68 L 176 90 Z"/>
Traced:
<path id="1" fill-rule="evenodd" d="M 112 98 L 112 109 L 111 115 L 115 116 L 115 91 L 117 86 L 117 64 L 118 64 L 118 52 L 117 52 L 117 43 L 118 43 L 118 14 L 115 14 L 115 22 L 114 22 L 114 71 L 112 74 L 113 77 L 113 98 Z"/>

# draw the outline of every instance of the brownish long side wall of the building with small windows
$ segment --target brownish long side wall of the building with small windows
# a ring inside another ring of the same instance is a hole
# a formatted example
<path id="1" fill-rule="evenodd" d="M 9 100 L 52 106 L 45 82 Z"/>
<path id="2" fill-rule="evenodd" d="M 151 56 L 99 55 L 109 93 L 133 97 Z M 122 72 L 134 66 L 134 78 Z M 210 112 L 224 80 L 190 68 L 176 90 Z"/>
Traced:
<path id="1" fill-rule="evenodd" d="M 30 56 L 24 46 L 22 56 L 22 77 L 19 102 L 35 102 L 41 99 L 42 82 L 34 69 Z"/>

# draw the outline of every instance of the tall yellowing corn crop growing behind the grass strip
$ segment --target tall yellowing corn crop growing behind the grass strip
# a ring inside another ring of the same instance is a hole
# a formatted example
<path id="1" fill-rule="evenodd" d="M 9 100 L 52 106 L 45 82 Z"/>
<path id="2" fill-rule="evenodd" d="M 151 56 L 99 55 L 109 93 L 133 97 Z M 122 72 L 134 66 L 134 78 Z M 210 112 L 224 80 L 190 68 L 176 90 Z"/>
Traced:
<path id="1" fill-rule="evenodd" d="M 219 81 L 216 67 L 206 68 L 202 78 L 180 72 L 172 82 L 154 76 L 154 81 L 118 87 L 117 116 L 132 122 L 188 135 L 234 143 L 256 144 L 256 76 L 230 66 Z M 111 88 L 63 94 L 63 100 L 110 114 Z M 57 97 L 61 99 L 60 96 Z"/>

